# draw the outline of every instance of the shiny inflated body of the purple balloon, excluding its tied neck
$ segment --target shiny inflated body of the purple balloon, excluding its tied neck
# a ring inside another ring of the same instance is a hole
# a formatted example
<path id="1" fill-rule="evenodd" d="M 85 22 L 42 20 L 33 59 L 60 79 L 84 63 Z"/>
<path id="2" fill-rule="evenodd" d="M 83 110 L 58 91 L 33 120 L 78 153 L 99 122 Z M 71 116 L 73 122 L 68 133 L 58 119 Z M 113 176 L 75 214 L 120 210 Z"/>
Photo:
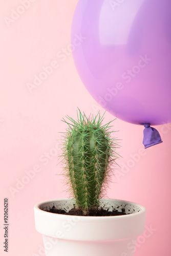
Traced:
<path id="1" fill-rule="evenodd" d="M 121 120 L 171 121 L 170 13 L 170 0 L 78 1 L 76 69 L 94 99 Z"/>

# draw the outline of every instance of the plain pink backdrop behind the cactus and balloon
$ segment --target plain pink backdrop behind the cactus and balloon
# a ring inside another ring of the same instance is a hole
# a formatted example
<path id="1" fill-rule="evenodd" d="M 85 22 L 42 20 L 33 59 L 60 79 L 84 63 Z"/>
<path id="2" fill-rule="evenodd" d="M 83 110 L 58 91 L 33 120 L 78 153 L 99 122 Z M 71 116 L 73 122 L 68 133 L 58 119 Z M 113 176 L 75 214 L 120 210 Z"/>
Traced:
<path id="1" fill-rule="evenodd" d="M 76 118 L 77 107 L 87 115 L 104 112 L 84 88 L 74 66 L 70 30 L 76 4 L 77 0 L 0 3 L 0 219 L 3 225 L 3 202 L 8 197 L 10 256 L 45 255 L 40 252 L 43 243 L 35 230 L 33 207 L 68 197 L 57 165 L 59 132 L 66 128 L 61 119 L 66 115 Z M 60 58 L 62 51 L 65 56 Z M 53 68 L 44 76 L 41 72 L 50 65 Z M 37 86 L 36 76 L 42 77 Z M 106 113 L 104 122 L 112 119 Z M 107 195 L 146 207 L 146 231 L 138 239 L 135 256 L 169 256 L 171 124 L 156 126 L 163 143 L 147 150 L 143 150 L 142 126 L 119 119 L 113 124 L 122 139 L 122 158 Z M 1 255 L 7 255 L 2 225 L 0 249 Z"/>

